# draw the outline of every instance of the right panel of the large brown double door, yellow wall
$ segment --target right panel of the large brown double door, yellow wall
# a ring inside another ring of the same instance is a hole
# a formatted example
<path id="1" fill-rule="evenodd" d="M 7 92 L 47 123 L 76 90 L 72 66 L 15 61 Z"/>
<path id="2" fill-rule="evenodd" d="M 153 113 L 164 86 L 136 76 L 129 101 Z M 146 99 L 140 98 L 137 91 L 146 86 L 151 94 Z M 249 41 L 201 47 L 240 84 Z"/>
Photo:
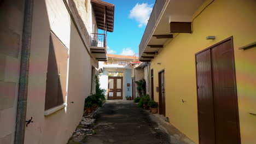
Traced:
<path id="1" fill-rule="evenodd" d="M 231 46 L 229 40 L 211 51 L 216 143 L 240 143 L 234 54 Z"/>

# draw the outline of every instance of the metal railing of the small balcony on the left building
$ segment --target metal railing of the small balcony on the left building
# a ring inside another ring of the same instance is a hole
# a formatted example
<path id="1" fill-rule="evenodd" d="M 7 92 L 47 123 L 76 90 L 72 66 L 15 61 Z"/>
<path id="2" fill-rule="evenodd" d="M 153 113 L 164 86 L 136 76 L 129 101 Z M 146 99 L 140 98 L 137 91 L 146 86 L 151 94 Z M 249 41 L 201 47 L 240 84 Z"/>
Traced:
<path id="1" fill-rule="evenodd" d="M 106 47 L 106 35 L 100 33 L 91 33 L 90 46 L 91 47 Z"/>

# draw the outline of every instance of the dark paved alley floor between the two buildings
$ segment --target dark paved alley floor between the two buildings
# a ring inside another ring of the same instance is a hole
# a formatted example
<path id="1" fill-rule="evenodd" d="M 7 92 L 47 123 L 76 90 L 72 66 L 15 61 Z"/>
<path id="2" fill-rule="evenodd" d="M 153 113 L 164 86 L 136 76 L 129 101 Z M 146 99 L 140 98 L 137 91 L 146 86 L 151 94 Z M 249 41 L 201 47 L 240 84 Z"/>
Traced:
<path id="1" fill-rule="evenodd" d="M 96 112 L 95 135 L 86 144 L 170 143 L 170 136 L 152 122 L 149 114 L 129 101 L 107 101 Z"/>

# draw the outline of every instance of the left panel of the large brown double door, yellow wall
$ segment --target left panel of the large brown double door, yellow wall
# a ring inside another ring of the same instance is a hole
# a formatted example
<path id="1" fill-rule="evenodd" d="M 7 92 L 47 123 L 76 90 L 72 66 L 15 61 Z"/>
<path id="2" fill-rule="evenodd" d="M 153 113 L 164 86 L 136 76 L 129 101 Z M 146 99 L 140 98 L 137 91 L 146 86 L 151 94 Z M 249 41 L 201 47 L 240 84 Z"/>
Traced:
<path id="1" fill-rule="evenodd" d="M 215 143 L 210 50 L 196 55 L 200 143 Z"/>

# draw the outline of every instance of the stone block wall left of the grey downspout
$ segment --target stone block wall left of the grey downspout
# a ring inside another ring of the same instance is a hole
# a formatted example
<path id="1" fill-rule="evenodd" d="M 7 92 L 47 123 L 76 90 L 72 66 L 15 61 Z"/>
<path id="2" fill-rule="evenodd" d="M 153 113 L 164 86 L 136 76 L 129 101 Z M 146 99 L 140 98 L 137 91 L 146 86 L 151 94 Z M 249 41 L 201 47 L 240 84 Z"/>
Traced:
<path id="1" fill-rule="evenodd" d="M 24 1 L 0 3 L 0 143 L 14 143 Z"/>

